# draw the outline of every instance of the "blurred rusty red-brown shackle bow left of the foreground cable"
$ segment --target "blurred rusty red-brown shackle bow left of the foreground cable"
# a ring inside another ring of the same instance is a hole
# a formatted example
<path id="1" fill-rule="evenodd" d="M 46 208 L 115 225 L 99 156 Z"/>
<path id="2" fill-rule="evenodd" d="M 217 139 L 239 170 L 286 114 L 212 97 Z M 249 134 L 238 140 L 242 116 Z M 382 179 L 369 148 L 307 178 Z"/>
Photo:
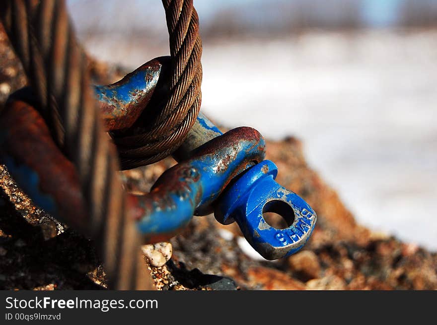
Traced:
<path id="1" fill-rule="evenodd" d="M 76 169 L 54 143 L 41 114 L 24 101 L 10 100 L 0 129 L 1 157 L 8 160 L 11 174 L 24 178 L 22 186 L 38 183 L 29 184 L 32 199 L 75 229 L 85 228 L 89 214 Z"/>

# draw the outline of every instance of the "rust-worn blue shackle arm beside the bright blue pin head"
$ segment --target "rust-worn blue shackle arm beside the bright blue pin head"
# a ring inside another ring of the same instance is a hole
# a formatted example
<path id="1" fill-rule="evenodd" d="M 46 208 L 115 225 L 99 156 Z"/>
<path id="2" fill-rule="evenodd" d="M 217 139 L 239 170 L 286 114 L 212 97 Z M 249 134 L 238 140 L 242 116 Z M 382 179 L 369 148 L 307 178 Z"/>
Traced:
<path id="1" fill-rule="evenodd" d="M 215 139 L 227 143 L 227 138 L 238 134 L 231 130 Z M 211 203 L 217 200 L 234 175 L 242 173 L 252 159 L 262 160 L 265 141 L 240 140 L 231 142 L 208 154 L 201 154 L 165 171 L 145 195 L 140 204 L 146 213 L 138 222 L 138 229 L 146 235 L 174 233 L 186 225 L 193 215 L 212 212 Z M 205 144 L 216 147 L 214 143 Z M 226 157 L 231 157 L 229 160 Z M 147 208 L 148 207 L 148 208 Z"/>

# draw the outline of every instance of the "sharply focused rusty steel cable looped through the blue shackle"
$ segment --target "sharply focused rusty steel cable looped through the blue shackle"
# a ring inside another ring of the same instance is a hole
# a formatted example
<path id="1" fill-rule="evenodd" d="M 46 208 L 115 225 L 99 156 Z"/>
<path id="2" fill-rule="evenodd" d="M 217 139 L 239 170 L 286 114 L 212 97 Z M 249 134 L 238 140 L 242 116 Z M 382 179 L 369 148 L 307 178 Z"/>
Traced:
<path id="1" fill-rule="evenodd" d="M 174 152 L 196 122 L 202 100 L 202 41 L 193 0 L 162 0 L 172 60 L 165 103 L 152 103 L 128 131 L 112 132 L 122 169 L 154 163 Z"/>

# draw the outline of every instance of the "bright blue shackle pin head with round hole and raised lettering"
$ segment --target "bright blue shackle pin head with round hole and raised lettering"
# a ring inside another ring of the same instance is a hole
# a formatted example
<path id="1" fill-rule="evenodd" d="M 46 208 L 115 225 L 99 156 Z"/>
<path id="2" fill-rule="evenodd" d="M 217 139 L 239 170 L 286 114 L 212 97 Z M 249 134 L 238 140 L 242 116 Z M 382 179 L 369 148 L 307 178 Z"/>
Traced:
<path id="1" fill-rule="evenodd" d="M 299 251 L 317 220 L 314 210 L 301 197 L 275 182 L 277 174 L 276 165 L 269 160 L 253 166 L 226 189 L 215 210 L 216 219 L 221 223 L 236 221 L 246 240 L 267 260 Z M 281 202 L 289 207 L 282 212 L 288 214 L 290 225 L 276 229 L 265 221 L 263 211 L 266 204 L 275 206 Z"/>

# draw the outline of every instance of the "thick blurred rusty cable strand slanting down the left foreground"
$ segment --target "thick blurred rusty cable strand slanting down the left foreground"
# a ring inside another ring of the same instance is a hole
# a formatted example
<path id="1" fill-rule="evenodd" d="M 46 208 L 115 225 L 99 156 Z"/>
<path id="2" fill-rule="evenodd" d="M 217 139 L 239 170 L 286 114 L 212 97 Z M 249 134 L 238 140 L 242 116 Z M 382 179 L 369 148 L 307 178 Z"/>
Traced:
<path id="1" fill-rule="evenodd" d="M 78 230 L 96 240 L 109 287 L 141 288 L 135 283 L 144 265 L 140 235 L 125 217 L 117 155 L 103 130 L 65 2 L 6 0 L 0 14 L 52 135 L 77 170 L 89 216 Z"/>

